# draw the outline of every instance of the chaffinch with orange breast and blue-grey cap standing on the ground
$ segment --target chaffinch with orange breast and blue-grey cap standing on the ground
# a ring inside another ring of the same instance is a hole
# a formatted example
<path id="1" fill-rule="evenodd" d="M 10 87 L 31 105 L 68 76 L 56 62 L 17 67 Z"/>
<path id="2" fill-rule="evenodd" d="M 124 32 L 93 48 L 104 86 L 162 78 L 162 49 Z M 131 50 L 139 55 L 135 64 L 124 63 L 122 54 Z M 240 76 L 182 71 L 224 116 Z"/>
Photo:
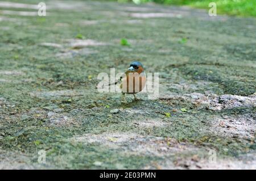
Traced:
<path id="1" fill-rule="evenodd" d="M 121 82 L 123 101 L 126 102 L 125 94 L 133 94 L 134 100 L 138 100 L 135 94 L 141 92 L 146 86 L 146 74 L 141 62 L 131 62 L 129 69 L 125 72 L 124 77 L 120 77 L 119 82 Z"/>

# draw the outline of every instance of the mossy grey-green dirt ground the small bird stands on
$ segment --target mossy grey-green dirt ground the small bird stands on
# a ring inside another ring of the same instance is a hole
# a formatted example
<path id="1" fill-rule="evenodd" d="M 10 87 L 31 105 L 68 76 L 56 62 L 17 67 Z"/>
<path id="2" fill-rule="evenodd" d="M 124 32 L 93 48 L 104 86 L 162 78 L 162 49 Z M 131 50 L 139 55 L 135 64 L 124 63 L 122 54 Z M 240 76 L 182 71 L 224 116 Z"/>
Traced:
<path id="1" fill-rule="evenodd" d="M 0 3 L 0 169 L 256 169 L 255 19 L 22 3 Z M 158 99 L 97 91 L 133 60 L 159 73 Z"/>

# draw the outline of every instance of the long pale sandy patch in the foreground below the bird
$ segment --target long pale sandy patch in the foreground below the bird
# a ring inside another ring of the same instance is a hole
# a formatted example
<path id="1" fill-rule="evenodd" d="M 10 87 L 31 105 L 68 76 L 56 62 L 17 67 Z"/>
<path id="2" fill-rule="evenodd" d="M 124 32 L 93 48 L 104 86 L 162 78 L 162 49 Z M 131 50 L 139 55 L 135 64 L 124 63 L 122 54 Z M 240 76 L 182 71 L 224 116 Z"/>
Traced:
<path id="1" fill-rule="evenodd" d="M 135 133 L 102 133 L 85 134 L 73 137 L 71 141 L 83 142 L 85 144 L 101 144 L 112 149 L 122 149 L 123 153 L 147 154 L 147 155 L 173 155 L 181 151 L 196 150 L 191 145 L 179 143 L 171 138 L 141 136 Z"/>

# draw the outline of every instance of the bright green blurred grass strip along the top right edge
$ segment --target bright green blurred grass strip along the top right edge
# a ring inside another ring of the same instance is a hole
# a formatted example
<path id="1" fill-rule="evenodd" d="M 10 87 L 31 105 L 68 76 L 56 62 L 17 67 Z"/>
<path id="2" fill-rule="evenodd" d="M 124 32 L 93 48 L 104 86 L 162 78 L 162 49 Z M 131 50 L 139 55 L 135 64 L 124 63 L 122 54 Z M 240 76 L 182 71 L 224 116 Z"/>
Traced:
<path id="1" fill-rule="evenodd" d="M 256 0 L 115 0 L 118 2 L 147 3 L 155 2 L 164 5 L 185 5 L 200 9 L 209 9 L 210 2 L 217 5 L 217 14 L 237 16 L 256 16 Z"/>

